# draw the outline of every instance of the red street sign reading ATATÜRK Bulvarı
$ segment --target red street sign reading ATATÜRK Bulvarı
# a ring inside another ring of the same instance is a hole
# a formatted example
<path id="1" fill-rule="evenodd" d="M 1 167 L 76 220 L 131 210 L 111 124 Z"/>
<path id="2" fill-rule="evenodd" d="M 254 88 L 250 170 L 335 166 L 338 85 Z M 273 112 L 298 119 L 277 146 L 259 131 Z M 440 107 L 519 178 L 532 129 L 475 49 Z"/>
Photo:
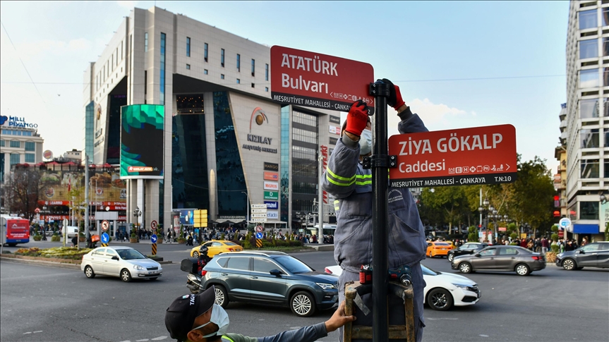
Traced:
<path id="1" fill-rule="evenodd" d="M 271 97 L 275 102 L 349 111 L 351 104 L 362 99 L 372 114 L 371 82 L 374 70 L 368 63 L 271 47 Z"/>

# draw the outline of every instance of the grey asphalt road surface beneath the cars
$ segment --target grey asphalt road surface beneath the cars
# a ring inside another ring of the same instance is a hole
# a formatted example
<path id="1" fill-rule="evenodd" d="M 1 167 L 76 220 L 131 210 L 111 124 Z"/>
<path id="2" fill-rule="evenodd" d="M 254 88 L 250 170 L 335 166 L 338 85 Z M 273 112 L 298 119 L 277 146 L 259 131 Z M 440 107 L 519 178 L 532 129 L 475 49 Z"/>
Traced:
<path id="1" fill-rule="evenodd" d="M 132 246 L 150 254 L 150 245 Z M 159 245 L 159 255 L 174 262 L 188 250 L 184 245 Z M 332 252 L 293 255 L 314 269 L 333 264 Z M 426 259 L 423 264 L 455 272 L 446 259 Z M 178 264 L 163 269 L 158 281 L 123 283 L 104 276 L 86 279 L 76 269 L 2 261 L 0 340 L 170 341 L 164 310 L 188 289 Z M 467 276 L 481 288 L 480 302 L 447 312 L 426 307 L 423 341 L 608 341 L 609 270 L 564 271 L 550 264 L 526 277 L 503 272 Z M 287 307 L 246 303 L 231 303 L 228 312 L 229 331 L 247 336 L 277 334 L 332 314 L 298 318 Z M 320 341 L 338 341 L 337 334 Z"/>

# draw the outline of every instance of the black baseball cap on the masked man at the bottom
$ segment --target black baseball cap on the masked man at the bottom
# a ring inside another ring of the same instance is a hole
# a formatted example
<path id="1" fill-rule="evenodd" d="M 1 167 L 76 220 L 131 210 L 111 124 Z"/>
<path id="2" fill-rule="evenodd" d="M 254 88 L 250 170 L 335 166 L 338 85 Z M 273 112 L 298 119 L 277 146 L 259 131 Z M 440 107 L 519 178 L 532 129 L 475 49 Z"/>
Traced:
<path id="1" fill-rule="evenodd" d="M 171 338 L 178 341 L 188 340 L 188 331 L 193 329 L 195 318 L 210 310 L 215 300 L 214 286 L 207 288 L 203 293 L 176 298 L 165 312 L 165 327 Z"/>

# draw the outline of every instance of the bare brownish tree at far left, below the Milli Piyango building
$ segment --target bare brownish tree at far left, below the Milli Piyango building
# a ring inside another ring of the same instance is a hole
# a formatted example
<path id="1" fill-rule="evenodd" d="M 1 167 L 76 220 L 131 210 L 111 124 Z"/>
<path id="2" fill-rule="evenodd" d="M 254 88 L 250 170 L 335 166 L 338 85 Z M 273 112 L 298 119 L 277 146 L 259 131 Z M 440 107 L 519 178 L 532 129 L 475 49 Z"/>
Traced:
<path id="1" fill-rule="evenodd" d="M 12 213 L 23 214 L 30 221 L 36 216 L 38 197 L 47 189 L 40 171 L 29 165 L 16 165 L 8 178 L 6 196 Z"/>

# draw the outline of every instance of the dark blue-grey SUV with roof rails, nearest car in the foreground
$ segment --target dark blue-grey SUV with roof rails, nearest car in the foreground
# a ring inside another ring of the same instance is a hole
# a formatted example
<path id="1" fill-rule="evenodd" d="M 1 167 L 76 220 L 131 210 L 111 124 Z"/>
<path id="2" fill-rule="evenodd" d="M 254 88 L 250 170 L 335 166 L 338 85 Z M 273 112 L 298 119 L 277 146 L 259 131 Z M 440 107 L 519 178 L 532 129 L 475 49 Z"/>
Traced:
<path id="1" fill-rule="evenodd" d="M 284 252 L 227 252 L 203 269 L 203 288 L 215 285 L 216 304 L 230 301 L 289 306 L 308 317 L 338 303 L 338 278 Z"/>

